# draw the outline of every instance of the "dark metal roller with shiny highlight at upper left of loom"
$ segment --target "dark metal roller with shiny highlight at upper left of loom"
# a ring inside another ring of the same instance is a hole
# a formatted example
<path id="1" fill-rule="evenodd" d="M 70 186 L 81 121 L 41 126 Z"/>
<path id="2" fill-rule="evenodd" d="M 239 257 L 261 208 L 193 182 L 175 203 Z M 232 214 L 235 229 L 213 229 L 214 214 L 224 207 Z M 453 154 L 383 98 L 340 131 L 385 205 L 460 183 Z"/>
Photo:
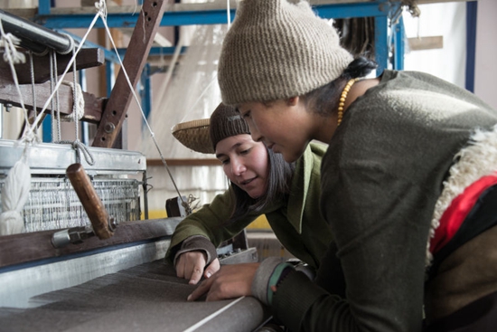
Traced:
<path id="1" fill-rule="evenodd" d="M 21 40 L 19 46 L 42 54 L 52 49 L 61 54 L 72 51 L 74 41 L 69 35 L 56 33 L 40 24 L 7 13 L 0 9 L 0 23 L 5 33 L 12 33 Z"/>

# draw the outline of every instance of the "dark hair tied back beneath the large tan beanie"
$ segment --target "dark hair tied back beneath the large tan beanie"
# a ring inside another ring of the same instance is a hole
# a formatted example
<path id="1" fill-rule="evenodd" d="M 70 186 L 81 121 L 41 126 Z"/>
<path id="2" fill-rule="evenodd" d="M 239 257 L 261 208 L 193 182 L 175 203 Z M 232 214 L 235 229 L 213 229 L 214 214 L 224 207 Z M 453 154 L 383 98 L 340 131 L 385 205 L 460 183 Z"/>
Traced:
<path id="1" fill-rule="evenodd" d="M 377 67 L 378 64 L 372 60 L 364 56 L 357 57 L 349 63 L 338 79 L 306 93 L 305 106 L 324 117 L 330 116 L 338 108 L 338 100 L 347 81 L 364 77 Z"/>

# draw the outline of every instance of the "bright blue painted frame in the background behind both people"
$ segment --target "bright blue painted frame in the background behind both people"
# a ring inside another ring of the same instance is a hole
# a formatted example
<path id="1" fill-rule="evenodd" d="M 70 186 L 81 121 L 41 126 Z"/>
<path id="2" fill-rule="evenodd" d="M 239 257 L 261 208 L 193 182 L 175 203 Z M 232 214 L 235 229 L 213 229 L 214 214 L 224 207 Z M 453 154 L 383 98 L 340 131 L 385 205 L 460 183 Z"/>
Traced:
<path id="1" fill-rule="evenodd" d="M 95 14 L 52 14 L 51 0 L 39 0 L 38 14 L 33 17 L 33 22 L 42 24 L 47 28 L 54 30 L 61 30 L 66 28 L 88 28 L 89 24 L 95 17 Z M 140 4 L 143 2 L 140 1 Z M 404 26 L 402 23 L 402 8 L 400 0 L 374 0 L 364 3 L 352 4 L 325 4 L 314 5 L 314 11 L 319 16 L 326 19 L 341 19 L 349 17 L 374 17 L 375 21 L 375 58 L 378 63 L 377 74 L 388 68 L 389 66 L 389 20 L 399 21 L 398 24 L 392 26 L 394 58 L 392 67 L 394 69 L 404 68 Z M 235 18 L 236 9 L 230 9 L 231 21 Z M 398 16 L 398 17 L 394 17 Z M 107 24 L 108 27 L 134 27 L 138 19 L 138 14 L 122 14 L 122 13 L 108 13 Z M 178 25 L 192 25 L 192 24 L 227 24 L 227 13 L 225 9 L 220 10 L 203 10 L 203 11 L 187 11 L 187 12 L 165 12 L 161 20 L 161 26 L 178 26 Z M 95 24 L 96 28 L 103 28 L 104 24 L 98 20 Z M 64 32 L 67 33 L 67 32 Z M 76 36 L 73 36 L 78 41 Z M 90 47 L 102 48 L 99 45 L 86 42 Z M 103 48 L 102 48 L 103 49 Z M 184 52 L 186 48 L 183 48 Z M 114 65 L 118 63 L 117 55 L 104 49 L 106 66 L 107 66 L 107 81 L 108 81 L 108 96 L 114 85 Z M 124 58 L 126 49 L 119 49 L 119 56 Z M 173 47 L 155 47 L 150 51 L 150 55 L 172 54 Z M 142 74 L 142 84 L 144 89 L 150 89 L 150 82 L 147 81 Z M 148 73 L 149 74 L 149 73 Z M 151 93 L 148 91 L 143 92 L 142 106 L 150 111 L 150 98 Z M 48 118 L 48 117 L 47 117 Z M 44 123 L 43 123 L 44 125 Z M 44 128 L 44 127 L 43 127 Z M 43 130 L 44 133 L 44 130 Z"/>

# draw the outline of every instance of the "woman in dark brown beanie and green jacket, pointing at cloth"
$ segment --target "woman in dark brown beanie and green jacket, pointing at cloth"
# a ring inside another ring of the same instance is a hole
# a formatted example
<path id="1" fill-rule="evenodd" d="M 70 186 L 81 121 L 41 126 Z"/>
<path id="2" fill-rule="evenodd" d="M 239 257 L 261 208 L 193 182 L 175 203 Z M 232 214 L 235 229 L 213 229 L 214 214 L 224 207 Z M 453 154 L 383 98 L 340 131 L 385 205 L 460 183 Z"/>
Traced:
<path id="1" fill-rule="evenodd" d="M 264 143 L 253 141 L 239 112 L 223 104 L 211 115 L 209 133 L 211 151 L 222 163 L 230 188 L 179 223 L 166 261 L 191 284 L 209 278 L 220 269 L 220 242 L 265 213 L 278 240 L 313 273 L 332 241 L 318 206 L 325 146 L 313 144 L 296 163 L 286 163 Z"/>

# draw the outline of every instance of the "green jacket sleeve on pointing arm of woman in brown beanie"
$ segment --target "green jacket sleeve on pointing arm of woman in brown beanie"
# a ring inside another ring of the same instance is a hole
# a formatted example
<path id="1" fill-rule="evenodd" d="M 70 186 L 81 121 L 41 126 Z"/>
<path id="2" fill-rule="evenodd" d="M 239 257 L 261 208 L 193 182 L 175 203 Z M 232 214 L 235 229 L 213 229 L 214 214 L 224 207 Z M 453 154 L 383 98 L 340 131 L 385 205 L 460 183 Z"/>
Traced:
<path id="1" fill-rule="evenodd" d="M 233 208 L 234 202 L 230 190 L 227 190 L 214 197 L 211 204 L 203 205 L 200 210 L 184 218 L 174 230 L 165 260 L 172 263 L 182 242 L 191 236 L 203 236 L 217 248 L 221 242 L 230 240 L 258 217 L 251 214 L 236 223 L 228 224 Z"/>

